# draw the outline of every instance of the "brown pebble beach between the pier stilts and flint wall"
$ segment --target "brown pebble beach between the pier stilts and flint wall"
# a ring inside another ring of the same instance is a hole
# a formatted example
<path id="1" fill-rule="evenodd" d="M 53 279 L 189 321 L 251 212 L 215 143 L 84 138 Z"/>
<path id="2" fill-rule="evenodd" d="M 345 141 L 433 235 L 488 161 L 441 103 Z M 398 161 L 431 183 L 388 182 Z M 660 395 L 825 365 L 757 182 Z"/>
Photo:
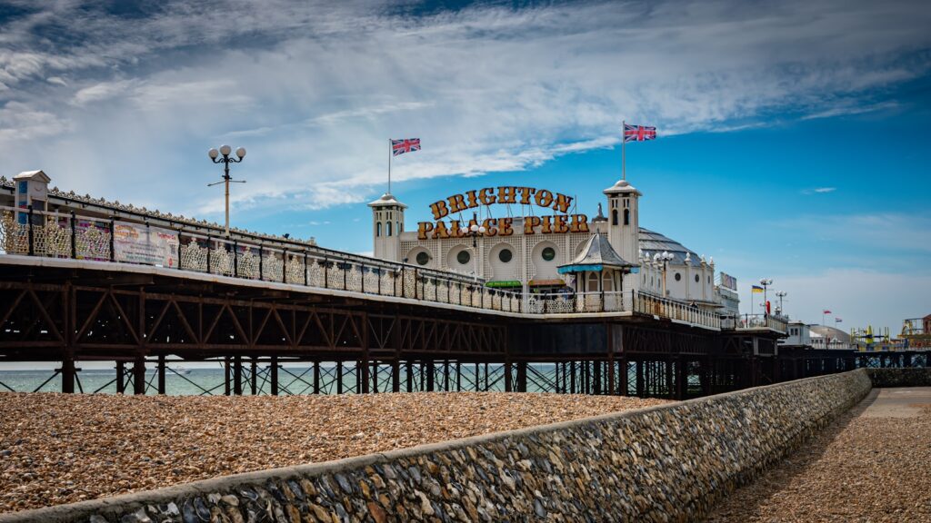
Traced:
<path id="1" fill-rule="evenodd" d="M 0 512 L 668 403 L 619 396 L 0 394 Z"/>

